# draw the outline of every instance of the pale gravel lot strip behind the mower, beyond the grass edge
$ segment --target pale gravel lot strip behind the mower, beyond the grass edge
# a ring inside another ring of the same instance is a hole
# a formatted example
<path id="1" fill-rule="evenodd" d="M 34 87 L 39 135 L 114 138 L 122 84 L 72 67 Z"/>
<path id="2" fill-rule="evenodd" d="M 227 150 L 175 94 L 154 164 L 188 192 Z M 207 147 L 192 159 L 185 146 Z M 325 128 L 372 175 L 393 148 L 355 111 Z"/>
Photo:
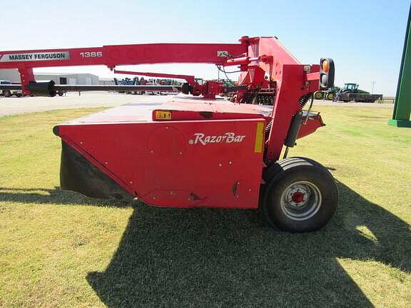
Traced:
<path id="1" fill-rule="evenodd" d="M 171 96 L 134 96 L 107 92 L 68 93 L 67 96 L 5 98 L 0 96 L 0 116 L 12 116 L 21 113 L 35 113 L 56 109 L 111 107 L 126 103 L 166 101 Z M 314 106 L 361 106 L 374 108 L 393 108 L 392 103 L 333 103 L 315 101 Z"/>

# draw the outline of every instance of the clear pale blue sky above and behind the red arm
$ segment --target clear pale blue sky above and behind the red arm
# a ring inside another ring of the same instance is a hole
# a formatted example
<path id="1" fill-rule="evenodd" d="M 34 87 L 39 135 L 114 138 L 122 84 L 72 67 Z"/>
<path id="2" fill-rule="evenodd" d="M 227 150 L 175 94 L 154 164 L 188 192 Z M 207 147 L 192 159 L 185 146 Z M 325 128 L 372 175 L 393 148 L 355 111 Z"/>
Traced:
<path id="1" fill-rule="evenodd" d="M 0 50 L 124 43 L 235 43 L 278 36 L 303 63 L 334 58 L 336 84 L 395 94 L 409 0 L 2 1 Z M 130 68 L 130 67 L 125 67 Z M 137 68 L 134 68 L 137 70 Z M 140 66 L 141 71 L 216 78 L 213 66 Z M 110 77 L 103 67 L 41 68 Z"/>

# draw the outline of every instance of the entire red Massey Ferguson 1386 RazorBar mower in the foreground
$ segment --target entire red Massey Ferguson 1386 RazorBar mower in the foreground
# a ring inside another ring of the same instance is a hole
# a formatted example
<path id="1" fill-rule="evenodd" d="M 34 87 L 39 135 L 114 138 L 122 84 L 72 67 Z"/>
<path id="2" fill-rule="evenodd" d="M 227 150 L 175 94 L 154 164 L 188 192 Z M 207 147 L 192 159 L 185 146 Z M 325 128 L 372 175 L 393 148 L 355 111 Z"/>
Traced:
<path id="1" fill-rule="evenodd" d="M 193 76 L 181 86 L 63 86 L 33 74 L 45 66 L 148 63 L 210 63 L 225 73 L 235 66 L 240 78 L 233 86 Z M 259 208 L 291 232 L 318 230 L 335 212 L 338 190 L 328 169 L 288 158 L 298 138 L 324 125 L 311 106 L 315 91 L 333 87 L 330 58 L 302 64 L 275 37 L 243 36 L 239 43 L 1 51 L 0 68 L 17 68 L 20 88 L 35 96 L 181 91 L 167 102 L 131 103 L 56 125 L 61 189 L 159 207 Z M 231 101 L 216 98 L 220 93 Z"/>

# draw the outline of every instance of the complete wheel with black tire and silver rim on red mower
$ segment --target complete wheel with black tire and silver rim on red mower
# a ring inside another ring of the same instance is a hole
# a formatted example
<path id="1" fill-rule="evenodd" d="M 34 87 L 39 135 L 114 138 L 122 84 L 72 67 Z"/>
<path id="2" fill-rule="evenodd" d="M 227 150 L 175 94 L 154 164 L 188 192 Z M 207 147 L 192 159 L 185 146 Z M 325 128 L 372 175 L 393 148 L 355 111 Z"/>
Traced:
<path id="1" fill-rule="evenodd" d="M 308 158 L 286 158 L 264 174 L 262 207 L 272 225 L 290 232 L 315 231 L 333 217 L 338 190 L 333 175 Z"/>

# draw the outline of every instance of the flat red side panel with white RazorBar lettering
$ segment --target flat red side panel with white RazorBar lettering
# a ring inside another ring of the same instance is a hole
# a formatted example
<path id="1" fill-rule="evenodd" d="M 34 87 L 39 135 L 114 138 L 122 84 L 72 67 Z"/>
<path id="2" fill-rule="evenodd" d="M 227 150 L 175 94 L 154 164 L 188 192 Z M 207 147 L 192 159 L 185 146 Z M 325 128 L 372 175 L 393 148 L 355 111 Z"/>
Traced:
<path id="1" fill-rule="evenodd" d="M 141 200 L 256 208 L 265 120 L 68 123 L 61 138 Z"/>

